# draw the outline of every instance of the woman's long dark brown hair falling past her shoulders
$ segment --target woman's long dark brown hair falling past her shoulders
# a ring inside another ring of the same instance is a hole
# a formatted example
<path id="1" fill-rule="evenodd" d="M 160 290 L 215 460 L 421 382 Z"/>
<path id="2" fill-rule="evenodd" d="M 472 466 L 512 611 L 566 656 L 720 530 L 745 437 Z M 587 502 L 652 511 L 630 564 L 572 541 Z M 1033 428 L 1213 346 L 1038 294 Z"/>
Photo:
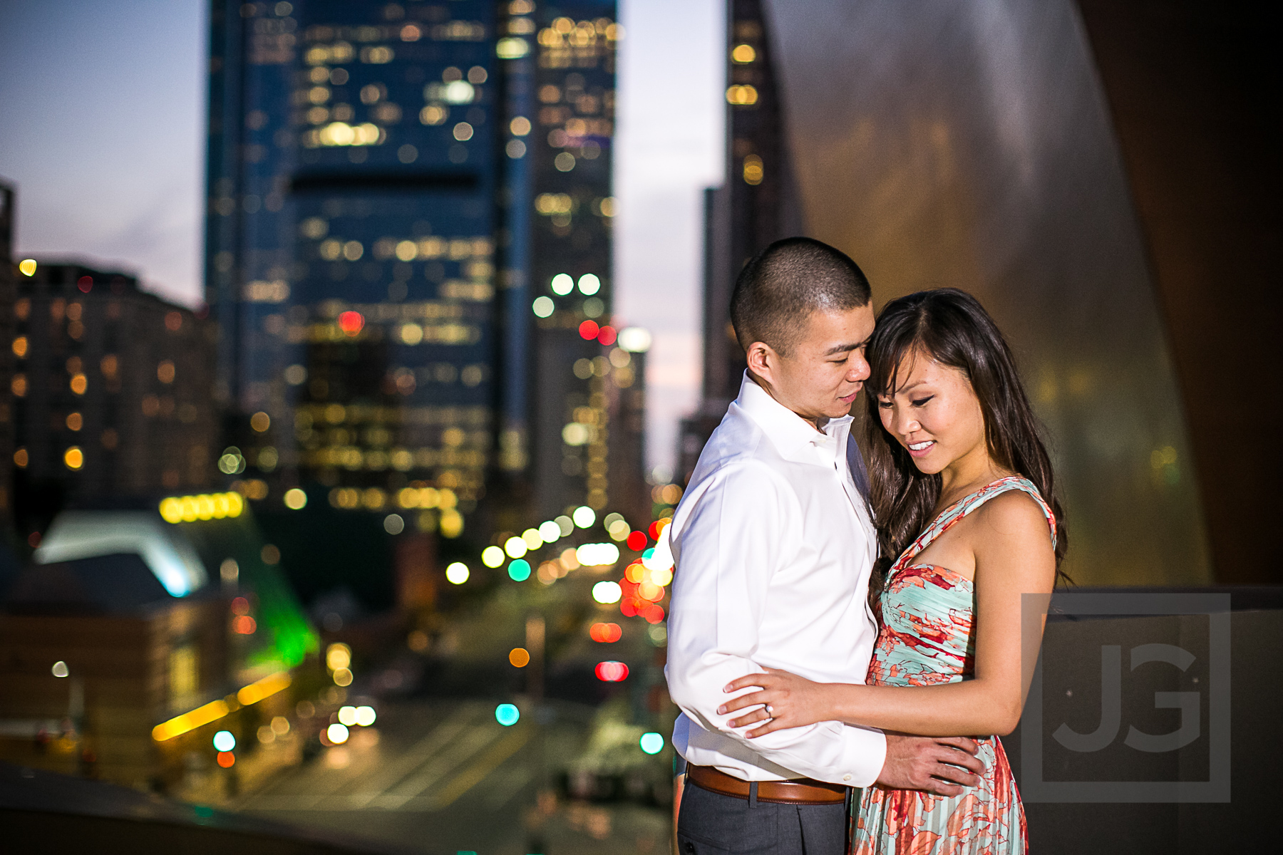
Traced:
<path id="1" fill-rule="evenodd" d="M 957 368 L 971 382 L 984 414 L 989 456 L 1032 481 L 1056 518 L 1056 577 L 1057 582 L 1069 582 L 1060 569 L 1069 535 L 1051 458 L 1011 349 L 980 301 L 957 288 L 919 291 L 892 300 L 878 315 L 867 354 L 871 370 L 865 382 L 865 436 L 881 552 L 874 565 L 870 599 L 876 604 L 887 570 L 931 522 L 940 499 L 940 476 L 920 472 L 905 446 L 883 428 L 878 413 L 879 396 L 894 394 L 901 365 L 917 354 Z"/>

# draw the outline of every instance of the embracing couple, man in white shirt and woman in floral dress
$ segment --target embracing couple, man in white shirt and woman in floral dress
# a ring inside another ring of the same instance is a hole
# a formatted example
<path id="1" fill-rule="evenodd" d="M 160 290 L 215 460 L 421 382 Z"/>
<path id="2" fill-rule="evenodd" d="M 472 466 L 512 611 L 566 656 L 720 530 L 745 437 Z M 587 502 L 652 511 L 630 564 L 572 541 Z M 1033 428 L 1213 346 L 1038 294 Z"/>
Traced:
<path id="1" fill-rule="evenodd" d="M 1065 531 L 1001 332 L 952 288 L 875 322 L 810 238 L 744 267 L 731 320 L 748 370 L 668 529 L 679 855 L 1026 851 L 996 735 Z"/>

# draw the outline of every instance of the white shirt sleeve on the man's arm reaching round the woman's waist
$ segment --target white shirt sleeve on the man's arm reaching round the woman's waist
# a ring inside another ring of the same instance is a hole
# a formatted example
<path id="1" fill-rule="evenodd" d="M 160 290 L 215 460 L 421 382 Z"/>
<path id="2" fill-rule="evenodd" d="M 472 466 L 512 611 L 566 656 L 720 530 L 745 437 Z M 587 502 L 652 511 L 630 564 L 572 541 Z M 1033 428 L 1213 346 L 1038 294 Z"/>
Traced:
<path id="1" fill-rule="evenodd" d="M 802 509 L 779 473 L 738 461 L 708 477 L 671 526 L 676 573 L 668 618 L 668 692 L 693 724 L 730 737 L 745 759 L 758 755 L 797 776 L 869 786 L 881 772 L 879 731 L 821 722 L 748 740 L 718 715 L 722 688 L 762 673 L 758 628 L 771 579 L 802 551 Z M 771 663 L 776 664 L 776 663 Z M 692 743 L 699 735 L 692 735 Z M 726 750 L 718 740 L 718 751 Z"/>

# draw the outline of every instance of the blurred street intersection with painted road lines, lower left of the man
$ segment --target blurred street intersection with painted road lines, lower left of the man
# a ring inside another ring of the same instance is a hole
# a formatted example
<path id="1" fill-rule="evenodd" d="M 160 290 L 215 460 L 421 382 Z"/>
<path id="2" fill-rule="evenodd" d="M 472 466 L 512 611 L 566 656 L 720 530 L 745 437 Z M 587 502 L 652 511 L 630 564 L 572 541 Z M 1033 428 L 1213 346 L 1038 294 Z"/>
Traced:
<path id="1" fill-rule="evenodd" d="M 503 727 L 493 704 L 400 702 L 349 745 L 326 749 L 235 806 L 423 852 L 663 851 L 666 810 L 568 801 L 544 777 L 540 755 L 574 755 L 585 736 L 584 722 L 567 715 Z"/>

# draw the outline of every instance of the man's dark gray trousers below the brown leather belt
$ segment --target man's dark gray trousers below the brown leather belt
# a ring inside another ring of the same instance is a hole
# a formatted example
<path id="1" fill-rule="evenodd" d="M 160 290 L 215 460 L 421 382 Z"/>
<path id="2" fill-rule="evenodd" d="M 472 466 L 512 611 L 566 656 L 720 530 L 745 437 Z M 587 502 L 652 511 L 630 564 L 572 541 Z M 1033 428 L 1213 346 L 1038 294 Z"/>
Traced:
<path id="1" fill-rule="evenodd" d="M 756 792 L 756 788 L 754 788 Z M 780 805 L 686 781 L 677 855 L 845 855 L 847 805 Z"/>

